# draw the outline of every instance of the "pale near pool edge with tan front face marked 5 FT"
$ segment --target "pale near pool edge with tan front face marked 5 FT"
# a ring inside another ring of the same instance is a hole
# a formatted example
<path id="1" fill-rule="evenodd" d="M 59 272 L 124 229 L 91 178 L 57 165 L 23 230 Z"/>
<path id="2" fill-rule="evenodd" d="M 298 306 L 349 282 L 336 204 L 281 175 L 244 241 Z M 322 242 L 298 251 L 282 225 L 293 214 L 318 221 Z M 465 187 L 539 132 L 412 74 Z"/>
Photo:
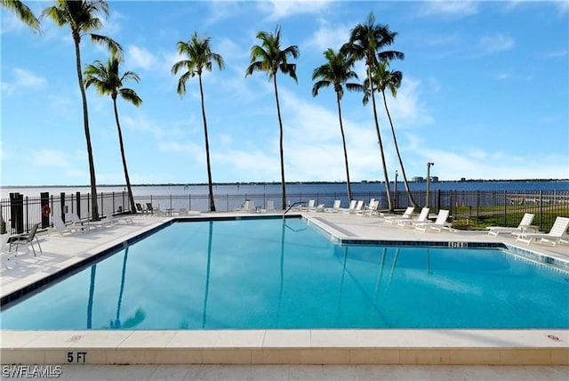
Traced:
<path id="1" fill-rule="evenodd" d="M 3 364 L 569 365 L 567 342 L 567 330 L 542 329 L 3 331 L 0 354 Z"/>

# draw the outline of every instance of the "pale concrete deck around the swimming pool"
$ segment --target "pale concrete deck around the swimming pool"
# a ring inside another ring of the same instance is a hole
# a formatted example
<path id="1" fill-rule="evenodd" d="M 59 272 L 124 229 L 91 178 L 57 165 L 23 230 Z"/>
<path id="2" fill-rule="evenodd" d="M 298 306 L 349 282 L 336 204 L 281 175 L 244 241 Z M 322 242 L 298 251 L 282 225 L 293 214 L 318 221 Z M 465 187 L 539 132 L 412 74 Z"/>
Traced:
<path id="1" fill-rule="evenodd" d="M 246 214 L 217 212 L 202 213 L 196 217 L 235 215 Z M 566 244 L 556 247 L 544 244 L 528 246 L 517 244 L 515 239 L 508 235 L 493 237 L 484 231 L 421 232 L 384 223 L 377 217 L 362 215 L 303 215 L 336 239 L 503 242 L 569 262 L 569 246 Z M 121 223 L 112 228 L 98 228 L 82 234 L 60 236 L 52 233 L 48 236 L 44 233 L 40 236 L 43 253 L 38 253 L 36 257 L 31 250 L 24 249 L 18 256 L 6 262 L 3 254 L 0 271 L 1 294 L 4 297 L 27 288 L 38 280 L 52 277 L 57 272 L 92 258 L 93 255 L 99 255 L 112 247 L 120 247 L 125 241 L 156 229 L 171 219 L 172 217 L 136 216 L 133 218 L 134 223 Z M 563 303 L 569 303 L 567 296 L 560 298 Z M 395 373 L 389 374 L 396 377 L 397 369 L 401 369 L 402 365 L 419 367 L 418 369 L 427 365 L 443 365 L 443 369 L 449 372 L 456 369 L 451 366 L 468 369 L 471 366 L 502 365 L 504 368 L 501 369 L 514 369 L 514 372 L 517 372 L 515 369 L 518 368 L 511 366 L 537 366 L 541 369 L 537 374 L 549 379 L 569 376 L 569 330 L 566 329 L 2 330 L 0 333 L 3 364 L 64 364 L 66 367 L 71 363 L 85 366 L 146 364 L 152 371 L 175 364 L 195 364 L 202 367 L 207 364 L 225 364 L 237 367 L 235 369 L 246 365 L 280 364 L 281 368 L 276 369 L 281 369 L 278 372 L 283 372 L 282 377 L 275 377 L 279 379 L 288 379 L 285 374 L 289 378 L 292 377 L 295 370 L 291 369 L 301 369 L 294 367 L 310 365 L 318 365 L 321 370 L 331 369 L 322 366 L 338 365 L 343 367 L 340 368 L 342 371 L 353 370 L 356 372 L 354 374 L 358 371 L 361 373 L 364 369 L 361 367 L 365 366 L 390 366 Z M 353 368 L 355 366 L 356 368 Z M 188 369 L 184 369 L 184 374 L 188 375 Z M 211 376 L 208 376 L 209 370 L 205 371 L 210 368 L 201 369 L 204 378 L 220 375 L 219 368 L 211 369 Z M 321 370 L 317 373 L 320 374 Z M 485 368 L 484 371 L 486 370 Z M 418 371 L 418 378 L 429 378 L 425 373 L 421 373 L 422 370 Z M 250 369 L 249 373 L 245 371 L 237 374 L 252 376 L 251 372 Z M 114 373 L 111 372 L 111 376 L 112 374 Z M 510 373 L 506 373 L 506 378 L 509 375 Z M 440 377 L 441 374 L 433 376 Z M 481 377 L 475 375 L 471 378 Z"/>

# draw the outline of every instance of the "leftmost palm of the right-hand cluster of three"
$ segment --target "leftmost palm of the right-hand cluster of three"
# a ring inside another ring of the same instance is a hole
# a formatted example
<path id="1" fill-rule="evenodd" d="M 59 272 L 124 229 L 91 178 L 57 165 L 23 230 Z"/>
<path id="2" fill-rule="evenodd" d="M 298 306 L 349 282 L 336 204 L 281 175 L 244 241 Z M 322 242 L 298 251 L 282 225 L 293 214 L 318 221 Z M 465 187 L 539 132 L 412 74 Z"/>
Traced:
<path id="1" fill-rule="evenodd" d="M 348 199 L 352 199 L 352 190 L 349 182 L 349 166 L 348 166 L 348 149 L 346 148 L 346 136 L 344 134 L 344 126 L 341 121 L 341 106 L 340 100 L 344 95 L 343 85 L 349 91 L 363 91 L 364 86 L 348 82 L 350 79 L 357 79 L 357 73 L 352 70 L 354 66 L 353 58 L 347 57 L 345 54 L 340 52 L 336 53 L 333 49 L 328 49 L 324 53 L 326 58 L 326 63 L 319 66 L 312 73 L 312 80 L 321 78 L 312 87 L 312 95 L 317 96 L 318 90 L 322 87 L 328 87 L 330 85 L 334 86 L 334 91 L 336 92 L 336 101 L 338 103 L 338 118 L 340 119 L 340 132 L 341 132 L 341 142 L 344 147 L 344 161 L 346 163 L 346 183 L 348 187 Z"/>

